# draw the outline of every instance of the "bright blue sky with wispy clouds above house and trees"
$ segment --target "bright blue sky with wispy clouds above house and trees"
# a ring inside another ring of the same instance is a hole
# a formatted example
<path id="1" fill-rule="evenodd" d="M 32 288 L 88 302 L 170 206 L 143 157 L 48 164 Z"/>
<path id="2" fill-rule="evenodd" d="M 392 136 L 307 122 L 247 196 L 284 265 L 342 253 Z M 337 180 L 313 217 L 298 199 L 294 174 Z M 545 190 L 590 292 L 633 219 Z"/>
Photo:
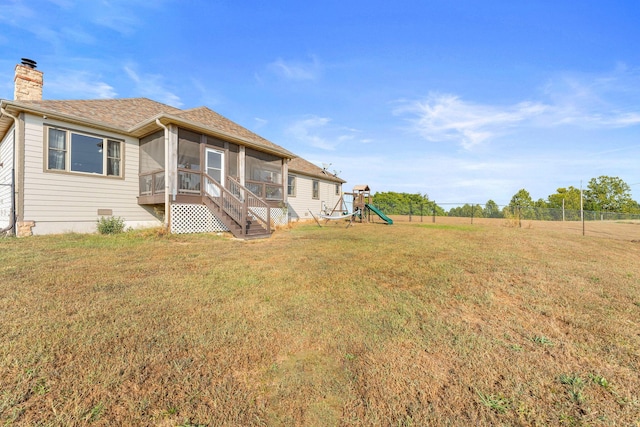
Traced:
<path id="1" fill-rule="evenodd" d="M 376 191 L 640 200 L 640 1 L 0 0 L 0 98 L 206 105 Z"/>

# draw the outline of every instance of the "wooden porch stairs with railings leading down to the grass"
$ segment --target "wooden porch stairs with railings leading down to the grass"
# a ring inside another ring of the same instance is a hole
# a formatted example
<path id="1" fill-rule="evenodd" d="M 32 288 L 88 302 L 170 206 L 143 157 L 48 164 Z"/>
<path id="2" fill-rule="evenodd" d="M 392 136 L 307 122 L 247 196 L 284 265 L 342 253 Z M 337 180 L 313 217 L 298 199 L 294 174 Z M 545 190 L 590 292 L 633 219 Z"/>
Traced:
<path id="1" fill-rule="evenodd" d="M 239 239 L 271 236 L 269 205 L 231 177 L 227 187 L 209 175 L 203 176 L 202 201 L 209 210 Z"/>

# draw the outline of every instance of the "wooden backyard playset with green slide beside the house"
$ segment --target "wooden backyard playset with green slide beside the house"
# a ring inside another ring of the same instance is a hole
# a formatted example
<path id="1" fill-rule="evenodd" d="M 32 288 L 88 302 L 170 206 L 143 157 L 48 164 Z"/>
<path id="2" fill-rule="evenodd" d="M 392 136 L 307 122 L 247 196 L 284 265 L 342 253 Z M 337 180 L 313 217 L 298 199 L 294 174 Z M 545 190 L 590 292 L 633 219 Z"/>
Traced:
<path id="1" fill-rule="evenodd" d="M 351 196 L 353 198 L 352 208 L 353 210 L 349 212 L 347 203 L 344 200 L 344 196 Z M 311 212 L 311 211 L 309 211 Z M 319 217 L 324 219 L 325 225 L 331 220 L 340 220 L 349 218 L 349 224 L 347 228 L 353 224 L 353 221 L 359 222 L 373 222 L 372 214 L 377 215 L 382 219 L 386 224 L 393 224 L 393 220 L 386 216 L 384 212 L 375 207 L 371 203 L 371 190 L 368 185 L 356 185 L 353 187 L 352 193 L 342 193 L 342 197 L 338 200 L 333 209 L 328 209 L 325 207 L 323 212 L 320 213 Z M 316 216 L 311 212 L 313 219 L 316 220 L 319 226 L 322 227 L 320 221 Z"/>

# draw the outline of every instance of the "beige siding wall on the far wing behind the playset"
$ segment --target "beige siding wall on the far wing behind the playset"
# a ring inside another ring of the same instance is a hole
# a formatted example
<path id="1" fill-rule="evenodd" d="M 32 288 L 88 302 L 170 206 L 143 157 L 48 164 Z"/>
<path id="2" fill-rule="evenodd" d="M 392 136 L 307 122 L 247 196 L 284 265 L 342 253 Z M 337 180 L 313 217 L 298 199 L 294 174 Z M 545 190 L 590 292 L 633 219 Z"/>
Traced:
<path id="1" fill-rule="evenodd" d="M 325 181 L 321 178 L 310 177 L 296 172 L 289 172 L 296 177 L 296 196 L 288 197 L 289 217 L 292 221 L 313 219 L 309 210 L 318 215 L 323 207 L 333 209 L 342 194 L 336 195 L 336 184 L 333 181 Z M 313 198 L 313 181 L 319 181 L 320 194 L 318 199 Z"/>

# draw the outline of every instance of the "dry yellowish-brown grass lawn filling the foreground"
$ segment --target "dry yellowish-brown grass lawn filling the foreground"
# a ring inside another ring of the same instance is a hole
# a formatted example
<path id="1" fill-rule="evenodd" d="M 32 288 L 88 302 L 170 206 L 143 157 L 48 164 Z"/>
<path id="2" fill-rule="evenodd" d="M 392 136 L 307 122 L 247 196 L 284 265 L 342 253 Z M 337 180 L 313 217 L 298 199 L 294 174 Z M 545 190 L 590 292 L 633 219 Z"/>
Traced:
<path id="1" fill-rule="evenodd" d="M 639 426 L 640 225 L 496 224 L 0 239 L 0 423 Z"/>

